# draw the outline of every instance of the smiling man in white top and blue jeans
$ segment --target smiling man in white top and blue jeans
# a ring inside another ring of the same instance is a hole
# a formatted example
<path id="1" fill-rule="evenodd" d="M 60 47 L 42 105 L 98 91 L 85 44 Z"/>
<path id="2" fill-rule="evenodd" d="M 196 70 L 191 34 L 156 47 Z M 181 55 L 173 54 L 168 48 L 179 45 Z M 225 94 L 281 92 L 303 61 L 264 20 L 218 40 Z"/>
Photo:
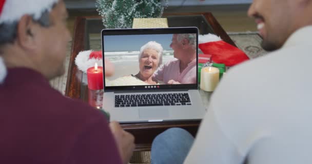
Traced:
<path id="1" fill-rule="evenodd" d="M 156 137 L 153 163 L 312 163 L 312 1 L 253 0 L 248 15 L 272 52 L 227 72 L 194 141 Z"/>

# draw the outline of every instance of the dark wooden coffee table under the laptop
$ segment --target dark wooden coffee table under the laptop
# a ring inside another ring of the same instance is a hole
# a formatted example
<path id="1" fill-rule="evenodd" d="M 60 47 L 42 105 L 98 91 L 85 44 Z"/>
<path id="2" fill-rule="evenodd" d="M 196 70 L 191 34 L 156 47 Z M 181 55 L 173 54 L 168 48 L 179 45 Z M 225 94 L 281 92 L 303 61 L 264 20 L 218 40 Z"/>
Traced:
<path id="1" fill-rule="evenodd" d="M 216 18 L 209 13 L 177 13 L 164 14 L 168 19 L 169 27 L 196 26 L 200 34 L 213 33 L 220 36 L 225 42 L 236 46 L 226 34 Z M 101 30 L 105 27 L 101 17 L 77 17 L 75 20 L 73 46 L 70 56 L 68 78 L 65 95 L 71 98 L 82 99 L 93 107 L 101 108 L 103 90 L 88 90 L 86 74 L 77 69 L 74 60 L 80 51 L 101 50 Z M 95 45 L 94 45 L 95 43 Z M 204 106 L 209 105 L 211 93 L 200 90 Z M 122 124 L 122 127 L 135 136 L 136 151 L 148 151 L 155 136 L 168 128 L 180 127 L 193 136 L 196 135 L 200 121 L 175 121 Z"/>

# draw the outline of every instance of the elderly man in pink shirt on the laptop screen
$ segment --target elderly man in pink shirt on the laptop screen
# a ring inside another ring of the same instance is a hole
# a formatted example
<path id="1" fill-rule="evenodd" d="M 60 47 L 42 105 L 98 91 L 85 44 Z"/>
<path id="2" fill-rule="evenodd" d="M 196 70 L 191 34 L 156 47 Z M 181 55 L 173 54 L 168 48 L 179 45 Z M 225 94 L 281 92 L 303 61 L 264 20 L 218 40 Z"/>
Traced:
<path id="1" fill-rule="evenodd" d="M 196 84 L 196 34 L 173 34 L 170 47 L 175 59 L 160 67 L 154 77 L 165 84 Z"/>

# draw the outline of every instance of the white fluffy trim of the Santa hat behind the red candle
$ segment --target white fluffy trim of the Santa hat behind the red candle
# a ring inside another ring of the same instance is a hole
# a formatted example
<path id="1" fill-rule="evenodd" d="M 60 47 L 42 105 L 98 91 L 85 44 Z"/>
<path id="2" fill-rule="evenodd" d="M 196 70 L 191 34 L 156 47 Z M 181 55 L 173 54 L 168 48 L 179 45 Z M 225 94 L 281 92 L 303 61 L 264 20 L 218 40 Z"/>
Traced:
<path id="1" fill-rule="evenodd" d="M 98 66 L 103 67 L 102 59 L 95 59 L 95 58 L 89 59 L 91 52 L 93 51 L 92 50 L 81 51 L 76 56 L 75 64 L 79 70 L 83 72 L 87 72 L 87 69 L 90 67 L 94 67 L 95 63 L 97 63 Z"/>

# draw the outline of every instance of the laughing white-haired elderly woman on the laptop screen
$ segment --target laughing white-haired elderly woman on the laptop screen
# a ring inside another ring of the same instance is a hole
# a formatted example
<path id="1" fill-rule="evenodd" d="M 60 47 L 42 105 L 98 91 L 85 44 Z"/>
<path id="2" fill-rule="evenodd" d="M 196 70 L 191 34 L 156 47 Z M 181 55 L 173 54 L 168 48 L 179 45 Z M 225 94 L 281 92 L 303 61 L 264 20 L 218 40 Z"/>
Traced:
<path id="1" fill-rule="evenodd" d="M 150 41 L 140 49 L 139 72 L 136 75 L 127 75 L 106 81 L 107 86 L 137 86 L 155 85 L 158 80 L 153 77 L 153 73 L 162 64 L 163 47 L 161 44 Z"/>

